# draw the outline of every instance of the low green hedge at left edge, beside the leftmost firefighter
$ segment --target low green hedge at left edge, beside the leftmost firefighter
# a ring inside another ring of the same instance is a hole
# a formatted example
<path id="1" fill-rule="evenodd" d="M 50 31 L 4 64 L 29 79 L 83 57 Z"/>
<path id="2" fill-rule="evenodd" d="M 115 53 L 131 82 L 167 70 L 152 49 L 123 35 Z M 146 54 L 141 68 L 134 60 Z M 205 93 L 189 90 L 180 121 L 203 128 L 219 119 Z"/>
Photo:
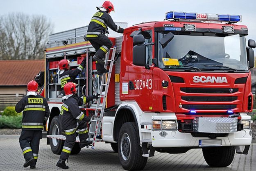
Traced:
<path id="1" fill-rule="evenodd" d="M 18 116 L 2 116 L 0 117 L 0 129 L 20 129 L 22 122 L 22 115 Z"/>

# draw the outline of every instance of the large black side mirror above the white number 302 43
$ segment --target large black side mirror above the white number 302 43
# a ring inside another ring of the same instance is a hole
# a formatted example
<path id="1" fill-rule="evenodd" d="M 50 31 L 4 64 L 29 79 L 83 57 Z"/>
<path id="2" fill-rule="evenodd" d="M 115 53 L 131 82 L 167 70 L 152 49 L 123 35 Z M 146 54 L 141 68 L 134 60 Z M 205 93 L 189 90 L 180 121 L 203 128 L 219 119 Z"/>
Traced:
<path id="1" fill-rule="evenodd" d="M 140 35 L 138 35 L 140 36 Z M 142 36 L 142 35 L 141 35 Z M 146 46 L 145 44 L 138 44 L 133 47 L 132 63 L 137 66 L 145 66 L 146 64 Z"/>

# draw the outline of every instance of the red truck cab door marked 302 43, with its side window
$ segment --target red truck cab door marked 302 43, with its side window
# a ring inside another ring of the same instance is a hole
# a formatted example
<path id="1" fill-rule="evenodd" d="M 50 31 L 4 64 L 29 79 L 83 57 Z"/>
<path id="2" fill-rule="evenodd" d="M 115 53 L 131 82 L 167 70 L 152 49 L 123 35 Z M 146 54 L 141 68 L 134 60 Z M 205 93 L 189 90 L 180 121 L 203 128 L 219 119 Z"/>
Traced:
<path id="1" fill-rule="evenodd" d="M 153 28 L 143 28 L 145 44 L 154 42 Z M 149 36 L 150 35 L 150 36 Z M 149 68 L 131 64 L 129 66 L 129 99 L 135 100 L 143 111 L 152 109 L 152 62 L 154 45 L 146 46 L 146 64 Z"/>

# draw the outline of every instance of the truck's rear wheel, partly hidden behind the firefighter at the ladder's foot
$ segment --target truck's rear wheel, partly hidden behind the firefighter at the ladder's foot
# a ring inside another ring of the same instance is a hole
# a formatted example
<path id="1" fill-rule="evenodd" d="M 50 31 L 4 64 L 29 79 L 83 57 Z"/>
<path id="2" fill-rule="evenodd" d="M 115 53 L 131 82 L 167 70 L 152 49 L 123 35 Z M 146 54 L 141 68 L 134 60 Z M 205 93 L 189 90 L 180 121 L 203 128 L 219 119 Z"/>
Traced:
<path id="1" fill-rule="evenodd" d="M 52 118 L 50 126 L 50 135 L 60 135 L 61 134 L 61 124 L 59 122 L 59 116 L 54 116 Z M 63 140 L 58 140 L 55 138 L 50 139 L 50 146 L 54 154 L 60 154 L 64 145 Z"/>

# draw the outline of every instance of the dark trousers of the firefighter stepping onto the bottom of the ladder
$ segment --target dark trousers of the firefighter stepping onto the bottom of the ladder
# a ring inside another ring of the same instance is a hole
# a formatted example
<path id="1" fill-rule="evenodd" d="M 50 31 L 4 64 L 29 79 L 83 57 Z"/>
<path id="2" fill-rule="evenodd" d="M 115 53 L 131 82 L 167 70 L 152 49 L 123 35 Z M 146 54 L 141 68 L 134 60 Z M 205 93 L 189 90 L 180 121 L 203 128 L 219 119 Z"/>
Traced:
<path id="1" fill-rule="evenodd" d="M 89 137 L 88 135 L 88 127 L 87 122 L 85 121 L 79 121 L 78 127 L 75 128 L 73 131 L 64 130 L 66 133 L 66 140 L 64 142 L 63 149 L 61 151 L 61 159 L 68 159 L 72 148 L 75 145 L 76 140 L 76 131 L 79 133 L 79 140 L 80 142 L 86 141 L 86 139 Z"/>

